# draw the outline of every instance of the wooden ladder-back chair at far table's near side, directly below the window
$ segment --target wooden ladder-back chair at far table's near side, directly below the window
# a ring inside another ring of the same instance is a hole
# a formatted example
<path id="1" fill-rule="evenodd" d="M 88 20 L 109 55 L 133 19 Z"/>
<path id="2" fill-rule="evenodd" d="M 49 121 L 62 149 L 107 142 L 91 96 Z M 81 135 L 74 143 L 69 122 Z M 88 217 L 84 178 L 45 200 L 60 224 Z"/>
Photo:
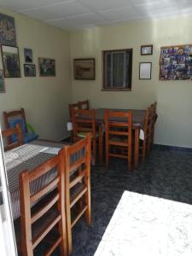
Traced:
<path id="1" fill-rule="evenodd" d="M 127 159 L 128 168 L 131 170 L 131 111 L 109 111 L 104 112 L 105 138 L 106 138 L 106 167 L 108 168 L 109 157 Z M 111 152 L 112 148 L 124 148 L 119 153 Z"/>

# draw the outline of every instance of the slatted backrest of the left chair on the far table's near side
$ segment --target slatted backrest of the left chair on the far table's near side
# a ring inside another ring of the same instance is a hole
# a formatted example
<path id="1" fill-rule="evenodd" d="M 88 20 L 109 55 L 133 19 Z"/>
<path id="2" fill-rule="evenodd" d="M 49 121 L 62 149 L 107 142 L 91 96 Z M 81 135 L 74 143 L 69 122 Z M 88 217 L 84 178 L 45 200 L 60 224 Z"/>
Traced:
<path id="1" fill-rule="evenodd" d="M 73 136 L 76 137 L 79 132 L 91 132 L 96 138 L 96 110 L 95 109 L 73 109 Z"/>

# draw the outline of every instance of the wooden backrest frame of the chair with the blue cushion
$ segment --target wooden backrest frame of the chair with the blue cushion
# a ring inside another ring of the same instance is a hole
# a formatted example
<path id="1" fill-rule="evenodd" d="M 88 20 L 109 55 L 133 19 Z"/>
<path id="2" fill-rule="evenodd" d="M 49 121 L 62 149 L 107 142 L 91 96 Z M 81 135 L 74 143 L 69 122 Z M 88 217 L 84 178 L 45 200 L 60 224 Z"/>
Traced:
<path id="1" fill-rule="evenodd" d="M 17 117 L 20 117 L 21 119 L 24 120 L 24 125 L 22 127 L 22 130 L 23 130 L 23 132 L 26 132 L 26 130 L 27 130 L 26 129 L 26 115 L 25 115 L 24 108 L 20 108 L 20 110 L 14 110 L 14 111 L 10 111 L 10 112 L 6 112 L 6 111 L 3 112 L 5 128 L 6 129 L 13 128 L 13 127 L 10 127 L 9 120 L 15 119 Z"/>

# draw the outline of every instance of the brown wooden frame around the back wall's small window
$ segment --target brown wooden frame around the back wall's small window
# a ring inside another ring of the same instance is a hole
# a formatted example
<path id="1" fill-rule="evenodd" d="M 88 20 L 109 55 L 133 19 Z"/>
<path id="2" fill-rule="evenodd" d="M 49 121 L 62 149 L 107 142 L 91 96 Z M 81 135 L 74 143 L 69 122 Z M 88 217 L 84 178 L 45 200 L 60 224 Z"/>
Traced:
<path id="1" fill-rule="evenodd" d="M 107 75 L 106 75 L 106 54 L 107 53 L 115 53 L 115 52 L 124 52 L 125 53 L 128 52 L 129 54 L 129 66 L 128 66 L 128 81 L 125 84 L 125 88 L 124 87 L 113 87 L 113 88 L 109 88 L 108 84 L 107 84 Z M 107 50 L 102 50 L 102 90 L 106 90 L 106 91 L 131 91 L 132 88 L 132 57 L 133 57 L 133 49 L 129 48 L 129 49 L 107 49 Z"/>

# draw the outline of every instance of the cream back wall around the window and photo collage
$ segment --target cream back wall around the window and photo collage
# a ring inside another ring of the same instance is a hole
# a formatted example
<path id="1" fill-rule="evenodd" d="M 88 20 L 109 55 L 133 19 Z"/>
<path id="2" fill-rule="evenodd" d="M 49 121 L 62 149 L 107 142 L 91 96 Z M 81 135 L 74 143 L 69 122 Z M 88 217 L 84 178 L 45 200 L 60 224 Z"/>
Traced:
<path id="1" fill-rule="evenodd" d="M 192 44 L 192 18 L 142 20 L 71 32 L 71 56 L 95 57 L 96 80 L 73 80 L 73 102 L 89 99 L 93 108 L 147 108 L 158 102 L 155 143 L 192 147 L 191 81 L 159 81 L 160 46 Z M 153 44 L 154 54 L 140 55 L 142 44 Z M 102 91 L 102 50 L 133 48 L 130 91 Z M 139 62 L 152 61 L 152 79 L 139 80 Z"/>

